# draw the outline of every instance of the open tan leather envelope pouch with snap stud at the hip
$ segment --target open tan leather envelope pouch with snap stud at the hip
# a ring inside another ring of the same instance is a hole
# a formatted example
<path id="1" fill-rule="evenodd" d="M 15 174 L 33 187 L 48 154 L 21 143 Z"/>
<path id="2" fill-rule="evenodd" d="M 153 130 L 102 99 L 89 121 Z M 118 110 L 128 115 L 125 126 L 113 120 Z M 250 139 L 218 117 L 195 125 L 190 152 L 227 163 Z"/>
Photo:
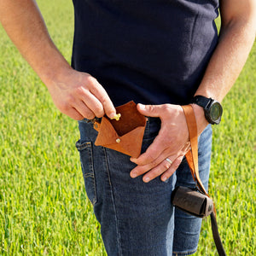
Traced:
<path id="1" fill-rule="evenodd" d="M 116 108 L 120 119 L 109 119 L 106 115 L 102 122 L 95 122 L 98 131 L 96 146 L 103 146 L 137 158 L 141 154 L 143 135 L 147 119 L 137 111 L 135 102 L 128 102 Z"/>

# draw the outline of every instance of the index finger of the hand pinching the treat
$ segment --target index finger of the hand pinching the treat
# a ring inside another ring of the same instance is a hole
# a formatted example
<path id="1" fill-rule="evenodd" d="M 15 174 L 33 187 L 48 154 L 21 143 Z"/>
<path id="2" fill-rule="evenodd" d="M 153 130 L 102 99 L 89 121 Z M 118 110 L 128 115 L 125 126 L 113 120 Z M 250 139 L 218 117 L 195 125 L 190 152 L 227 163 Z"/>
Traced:
<path id="1" fill-rule="evenodd" d="M 98 83 L 96 79 L 92 78 L 91 83 L 92 86 L 90 87 L 90 92 L 102 103 L 104 112 L 110 119 L 112 119 L 116 114 L 116 110 L 113 107 L 113 102 L 110 100 L 107 91 L 102 87 L 102 84 Z"/>

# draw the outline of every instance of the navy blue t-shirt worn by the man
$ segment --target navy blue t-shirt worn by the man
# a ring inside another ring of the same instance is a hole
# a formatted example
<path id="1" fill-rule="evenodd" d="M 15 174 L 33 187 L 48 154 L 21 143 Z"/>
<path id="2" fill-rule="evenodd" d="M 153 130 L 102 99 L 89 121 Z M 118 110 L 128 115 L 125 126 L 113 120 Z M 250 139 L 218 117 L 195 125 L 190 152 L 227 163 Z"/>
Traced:
<path id="1" fill-rule="evenodd" d="M 186 104 L 218 43 L 218 0 L 73 0 L 72 66 L 113 104 Z"/>

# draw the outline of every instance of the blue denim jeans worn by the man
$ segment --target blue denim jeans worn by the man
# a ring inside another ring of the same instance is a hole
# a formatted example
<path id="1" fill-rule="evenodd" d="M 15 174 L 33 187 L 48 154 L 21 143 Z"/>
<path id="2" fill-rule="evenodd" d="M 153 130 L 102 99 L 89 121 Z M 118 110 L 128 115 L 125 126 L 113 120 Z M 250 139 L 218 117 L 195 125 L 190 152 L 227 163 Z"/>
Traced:
<path id="1" fill-rule="evenodd" d="M 201 218 L 175 209 L 172 190 L 177 185 L 194 187 L 185 160 L 172 177 L 143 183 L 131 178 L 135 167 L 130 156 L 94 145 L 97 132 L 91 123 L 79 121 L 76 143 L 88 198 L 101 224 L 102 240 L 108 255 L 189 255 L 195 253 Z M 143 137 L 144 152 L 160 130 L 160 119 L 149 118 Z M 199 169 L 207 189 L 212 147 L 210 125 L 199 137 Z"/>

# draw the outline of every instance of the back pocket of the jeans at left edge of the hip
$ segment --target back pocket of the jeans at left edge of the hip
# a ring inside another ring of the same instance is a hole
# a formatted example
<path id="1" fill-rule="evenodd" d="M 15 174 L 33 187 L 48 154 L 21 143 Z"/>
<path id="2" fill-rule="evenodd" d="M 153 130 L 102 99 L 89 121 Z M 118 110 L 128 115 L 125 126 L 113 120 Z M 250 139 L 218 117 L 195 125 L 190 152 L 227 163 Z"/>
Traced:
<path id="1" fill-rule="evenodd" d="M 96 204 L 96 179 L 93 168 L 92 145 L 91 142 L 76 143 L 76 148 L 79 150 L 82 172 L 84 177 L 84 185 L 86 194 L 90 202 Z"/>

